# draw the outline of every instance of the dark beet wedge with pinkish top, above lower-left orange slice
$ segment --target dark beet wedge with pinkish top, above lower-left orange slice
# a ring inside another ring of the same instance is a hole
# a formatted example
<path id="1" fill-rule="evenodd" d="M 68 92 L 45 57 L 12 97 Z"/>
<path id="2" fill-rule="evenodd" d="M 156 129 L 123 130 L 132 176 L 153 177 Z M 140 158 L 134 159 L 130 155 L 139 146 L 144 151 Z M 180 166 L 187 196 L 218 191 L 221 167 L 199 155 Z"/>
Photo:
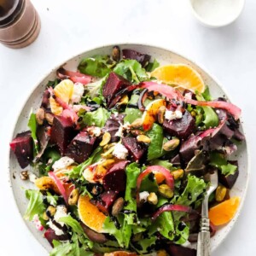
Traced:
<path id="1" fill-rule="evenodd" d="M 123 160 L 114 164 L 103 177 L 103 186 L 106 190 L 125 191 L 126 174 L 125 167 L 128 161 Z"/>

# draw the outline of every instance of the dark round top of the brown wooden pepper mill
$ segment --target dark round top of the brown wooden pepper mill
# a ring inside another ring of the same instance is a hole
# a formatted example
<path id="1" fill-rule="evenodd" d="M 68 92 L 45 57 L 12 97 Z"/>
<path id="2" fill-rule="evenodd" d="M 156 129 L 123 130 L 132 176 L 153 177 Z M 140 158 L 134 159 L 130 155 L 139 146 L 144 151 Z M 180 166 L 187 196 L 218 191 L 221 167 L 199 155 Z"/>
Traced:
<path id="1" fill-rule="evenodd" d="M 15 0 L 14 3 L 12 3 L 12 7 L 10 9 L 7 7 L 7 11 L 4 10 L 3 6 L 0 6 L 0 26 L 6 26 L 14 21 L 16 17 L 20 15 L 20 10 L 24 5 L 23 3 L 24 0 Z"/>

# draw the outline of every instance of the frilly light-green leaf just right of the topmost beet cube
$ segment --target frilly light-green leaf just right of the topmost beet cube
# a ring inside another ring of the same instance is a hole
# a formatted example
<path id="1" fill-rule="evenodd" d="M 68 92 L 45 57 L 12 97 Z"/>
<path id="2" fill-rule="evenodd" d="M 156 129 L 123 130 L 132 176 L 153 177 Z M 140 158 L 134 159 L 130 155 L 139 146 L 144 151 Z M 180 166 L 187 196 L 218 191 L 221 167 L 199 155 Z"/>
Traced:
<path id="1" fill-rule="evenodd" d="M 138 84 L 148 80 L 148 74 L 142 65 L 135 60 L 122 60 L 113 68 L 113 72 L 129 80 L 133 84 Z"/>

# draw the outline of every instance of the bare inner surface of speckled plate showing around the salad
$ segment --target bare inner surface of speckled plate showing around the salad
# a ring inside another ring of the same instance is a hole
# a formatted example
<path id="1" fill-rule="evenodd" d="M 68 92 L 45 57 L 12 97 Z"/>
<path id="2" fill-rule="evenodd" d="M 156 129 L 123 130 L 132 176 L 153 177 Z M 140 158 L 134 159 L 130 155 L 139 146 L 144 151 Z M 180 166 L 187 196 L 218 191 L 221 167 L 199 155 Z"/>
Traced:
<path id="1" fill-rule="evenodd" d="M 182 55 L 178 55 L 177 53 L 168 50 L 162 49 L 159 47 L 149 46 L 149 45 L 141 45 L 141 44 L 119 44 L 121 49 L 129 48 L 129 49 L 136 49 L 137 51 L 147 53 L 148 55 L 152 55 L 152 59 L 156 58 L 160 61 L 160 64 L 168 64 L 168 63 L 184 63 L 188 64 L 191 67 L 194 67 L 202 76 L 202 79 L 205 83 L 209 86 L 212 96 L 226 96 L 224 89 L 219 85 L 217 79 L 214 79 L 212 75 L 207 73 L 204 69 L 197 66 L 195 62 L 189 61 L 189 59 L 183 57 Z M 76 70 L 79 65 L 79 61 L 84 57 L 90 57 L 91 55 L 102 55 L 102 54 L 110 54 L 113 45 L 103 46 L 96 49 L 90 49 L 85 51 L 80 55 L 76 55 L 70 58 L 67 61 L 63 61 L 65 64 L 65 68 L 69 70 Z M 35 110 L 39 107 L 41 98 L 44 92 L 45 84 L 47 84 L 48 80 L 55 79 L 55 72 L 58 67 L 62 66 L 63 63 L 55 67 L 54 69 L 49 72 L 44 79 L 41 79 L 38 84 L 32 89 L 32 93 L 28 98 L 25 100 L 24 106 L 21 109 L 15 128 L 13 132 L 13 137 L 20 131 L 27 130 L 27 120 L 31 109 Z M 242 131 L 242 127 L 241 127 Z M 236 153 L 236 159 L 239 162 L 240 167 L 240 175 L 236 181 L 236 184 L 233 189 L 231 189 L 230 194 L 231 196 L 237 195 L 241 197 L 241 204 L 236 212 L 236 216 L 230 221 L 229 224 L 221 226 L 218 228 L 218 231 L 215 236 L 212 237 L 212 251 L 218 247 L 218 245 L 224 240 L 228 233 L 236 223 L 236 218 L 238 217 L 239 213 L 241 212 L 241 207 L 243 205 L 243 201 L 247 191 L 247 182 L 248 182 L 248 154 L 247 154 L 247 145 L 246 143 L 242 143 L 239 147 L 238 152 Z M 26 168 L 27 169 L 27 168 Z M 24 215 L 26 212 L 27 200 L 23 190 L 20 188 L 32 188 L 32 183 L 27 181 L 22 181 L 19 177 L 20 166 L 15 158 L 15 155 L 10 151 L 9 154 L 9 179 L 13 189 L 16 205 L 20 211 L 21 216 Z M 14 178 L 16 176 L 16 178 Z M 40 242 L 40 244 L 47 250 L 50 251 L 51 247 L 46 239 L 43 237 L 43 233 L 41 231 L 36 230 L 34 224 L 30 222 L 26 222 L 26 226 L 29 230 L 31 230 L 32 235 Z"/>

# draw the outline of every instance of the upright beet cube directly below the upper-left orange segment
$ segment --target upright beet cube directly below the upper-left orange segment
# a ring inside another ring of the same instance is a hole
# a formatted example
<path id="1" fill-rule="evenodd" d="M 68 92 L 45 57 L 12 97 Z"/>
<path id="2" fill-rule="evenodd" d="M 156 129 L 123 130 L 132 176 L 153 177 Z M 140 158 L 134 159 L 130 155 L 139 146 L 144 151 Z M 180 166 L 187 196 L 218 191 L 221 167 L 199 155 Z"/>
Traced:
<path id="1" fill-rule="evenodd" d="M 64 154 L 67 146 L 76 134 L 77 131 L 74 130 L 71 119 L 55 116 L 50 133 L 50 141 L 51 143 L 57 144 L 61 150 L 61 154 Z"/>

